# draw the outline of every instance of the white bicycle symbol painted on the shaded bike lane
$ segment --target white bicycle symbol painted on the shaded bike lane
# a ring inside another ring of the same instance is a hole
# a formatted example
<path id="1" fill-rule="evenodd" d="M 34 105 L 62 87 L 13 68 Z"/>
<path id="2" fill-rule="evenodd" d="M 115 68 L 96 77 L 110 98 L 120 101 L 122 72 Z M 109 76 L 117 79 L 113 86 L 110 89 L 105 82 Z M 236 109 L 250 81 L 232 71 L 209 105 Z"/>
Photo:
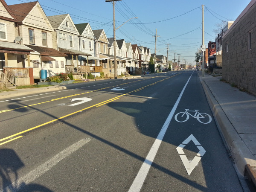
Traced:
<path id="1" fill-rule="evenodd" d="M 212 121 L 212 117 L 209 116 L 207 113 L 199 113 L 199 109 L 190 110 L 185 109 L 185 112 L 180 112 L 175 115 L 175 120 L 177 122 L 185 122 L 189 119 L 189 116 L 196 118 L 199 122 L 207 124 Z M 195 112 L 195 114 L 191 114 L 191 112 Z M 180 119 L 180 120 L 178 120 Z"/>

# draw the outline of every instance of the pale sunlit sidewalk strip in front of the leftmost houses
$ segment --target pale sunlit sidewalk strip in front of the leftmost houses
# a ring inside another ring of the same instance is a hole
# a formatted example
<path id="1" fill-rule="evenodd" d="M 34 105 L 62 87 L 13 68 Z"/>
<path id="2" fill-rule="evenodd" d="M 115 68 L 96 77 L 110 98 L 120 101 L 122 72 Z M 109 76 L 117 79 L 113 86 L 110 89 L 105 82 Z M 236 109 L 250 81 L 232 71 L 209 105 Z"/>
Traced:
<path id="1" fill-rule="evenodd" d="M 33 89 L 33 90 L 32 90 Z M 50 87 L 41 87 L 41 88 L 31 88 L 29 92 L 26 91 L 21 91 L 17 90 L 17 93 L 9 93 L 6 95 L 1 95 L 0 93 L 0 99 L 10 99 L 12 97 L 17 97 L 17 96 L 25 96 L 28 94 L 35 94 L 35 93 L 46 93 L 50 91 L 57 91 L 57 90 L 64 90 L 67 89 L 65 86 L 60 86 L 60 85 L 55 85 L 55 86 L 50 86 Z"/>

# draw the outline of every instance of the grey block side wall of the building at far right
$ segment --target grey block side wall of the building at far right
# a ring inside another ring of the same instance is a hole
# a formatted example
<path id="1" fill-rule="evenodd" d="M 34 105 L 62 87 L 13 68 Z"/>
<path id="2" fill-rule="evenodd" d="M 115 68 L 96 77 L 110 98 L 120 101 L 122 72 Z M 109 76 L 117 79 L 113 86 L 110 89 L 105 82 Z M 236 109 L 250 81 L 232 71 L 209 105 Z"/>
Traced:
<path id="1" fill-rule="evenodd" d="M 222 50 L 222 79 L 256 95 L 256 3 L 225 34 Z"/>

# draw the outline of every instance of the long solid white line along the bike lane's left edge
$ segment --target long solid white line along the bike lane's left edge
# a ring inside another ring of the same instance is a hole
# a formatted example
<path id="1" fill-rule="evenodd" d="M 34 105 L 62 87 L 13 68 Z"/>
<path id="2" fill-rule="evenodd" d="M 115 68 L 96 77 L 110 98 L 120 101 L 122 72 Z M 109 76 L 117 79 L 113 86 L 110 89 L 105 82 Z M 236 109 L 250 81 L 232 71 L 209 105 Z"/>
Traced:
<path id="1" fill-rule="evenodd" d="M 192 76 L 192 74 L 191 74 L 191 76 Z M 178 97 L 174 107 L 172 108 L 172 111 L 170 112 L 169 116 L 167 117 L 166 122 L 163 124 L 163 127 L 157 136 L 157 139 L 154 141 L 154 144 L 152 145 L 150 151 L 148 152 L 148 155 L 147 155 L 144 163 L 142 164 L 137 176 L 135 177 L 134 182 L 132 183 L 132 185 L 129 189 L 129 192 L 139 192 L 141 187 L 143 186 L 144 180 L 145 180 L 146 176 L 148 175 L 148 171 L 151 167 L 151 164 L 153 163 L 154 157 L 156 156 L 157 151 L 160 147 L 160 144 L 163 140 L 163 136 L 166 133 L 166 130 L 171 122 L 172 116 L 174 115 L 174 113 L 177 109 L 177 106 L 180 102 L 181 96 L 183 95 L 191 76 L 189 77 L 188 81 L 186 82 L 185 86 L 183 87 L 183 90 L 181 91 L 180 96 Z"/>

